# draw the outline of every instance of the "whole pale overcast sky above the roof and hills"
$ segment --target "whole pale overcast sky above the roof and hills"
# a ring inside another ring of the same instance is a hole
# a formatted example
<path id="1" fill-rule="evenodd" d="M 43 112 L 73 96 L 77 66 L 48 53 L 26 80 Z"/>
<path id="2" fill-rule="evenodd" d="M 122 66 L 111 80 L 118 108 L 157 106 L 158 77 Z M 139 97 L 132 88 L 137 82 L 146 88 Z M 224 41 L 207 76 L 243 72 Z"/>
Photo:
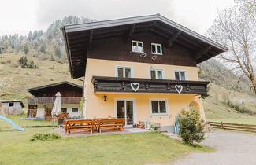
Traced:
<path id="1" fill-rule="evenodd" d="M 0 35 L 28 35 L 64 16 L 112 20 L 160 13 L 200 34 L 233 0 L 0 0 Z"/>

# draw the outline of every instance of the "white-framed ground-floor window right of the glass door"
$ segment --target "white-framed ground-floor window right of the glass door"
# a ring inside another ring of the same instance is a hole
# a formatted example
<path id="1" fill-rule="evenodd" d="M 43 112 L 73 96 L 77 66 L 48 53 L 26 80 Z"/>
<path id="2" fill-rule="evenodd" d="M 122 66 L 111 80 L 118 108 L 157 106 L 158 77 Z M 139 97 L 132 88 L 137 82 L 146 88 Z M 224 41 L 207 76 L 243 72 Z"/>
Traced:
<path id="1" fill-rule="evenodd" d="M 167 101 L 165 99 L 150 100 L 150 113 L 151 115 L 166 115 L 167 114 Z"/>

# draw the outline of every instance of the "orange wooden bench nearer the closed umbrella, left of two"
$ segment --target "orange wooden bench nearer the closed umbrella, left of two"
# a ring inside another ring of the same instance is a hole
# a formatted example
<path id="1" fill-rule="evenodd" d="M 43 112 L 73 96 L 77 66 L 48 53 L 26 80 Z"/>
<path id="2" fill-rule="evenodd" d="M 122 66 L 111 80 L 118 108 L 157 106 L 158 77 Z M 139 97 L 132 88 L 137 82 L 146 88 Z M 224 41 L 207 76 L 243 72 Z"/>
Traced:
<path id="1" fill-rule="evenodd" d="M 77 130 L 89 130 L 93 131 L 94 124 L 91 119 L 70 119 L 64 120 L 63 125 L 65 125 L 65 133 L 70 134 L 71 131 Z"/>

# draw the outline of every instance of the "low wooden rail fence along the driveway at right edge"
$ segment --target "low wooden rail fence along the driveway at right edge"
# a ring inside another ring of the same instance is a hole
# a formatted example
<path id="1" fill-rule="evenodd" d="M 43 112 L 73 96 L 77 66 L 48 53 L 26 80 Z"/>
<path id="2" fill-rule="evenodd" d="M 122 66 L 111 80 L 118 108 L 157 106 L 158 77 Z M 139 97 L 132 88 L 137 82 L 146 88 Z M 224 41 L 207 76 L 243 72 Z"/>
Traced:
<path id="1" fill-rule="evenodd" d="M 223 122 L 208 122 L 210 127 L 224 130 L 239 130 L 256 133 L 256 125 L 253 124 L 239 124 L 239 123 L 223 123 Z"/>

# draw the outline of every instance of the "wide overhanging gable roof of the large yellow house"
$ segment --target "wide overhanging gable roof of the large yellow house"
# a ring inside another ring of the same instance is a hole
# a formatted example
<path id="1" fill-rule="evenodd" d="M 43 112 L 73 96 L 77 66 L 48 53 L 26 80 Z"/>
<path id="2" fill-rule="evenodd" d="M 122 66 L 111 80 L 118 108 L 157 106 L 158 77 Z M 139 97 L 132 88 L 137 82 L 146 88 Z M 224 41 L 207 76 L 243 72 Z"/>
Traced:
<path id="1" fill-rule="evenodd" d="M 86 52 L 87 48 L 90 47 L 92 38 L 127 35 L 131 31 L 131 28 L 134 32 L 143 30 L 154 31 L 169 40 L 175 38 L 173 42 L 179 42 L 190 49 L 194 49 L 198 53 L 196 58 L 197 64 L 228 50 L 227 47 L 159 14 L 98 21 L 87 24 L 66 25 L 62 27 L 62 32 L 65 39 L 72 78 L 79 78 L 84 75 L 87 58 Z M 208 51 L 209 49 L 210 51 Z M 80 72 L 76 72 L 78 70 Z"/>

